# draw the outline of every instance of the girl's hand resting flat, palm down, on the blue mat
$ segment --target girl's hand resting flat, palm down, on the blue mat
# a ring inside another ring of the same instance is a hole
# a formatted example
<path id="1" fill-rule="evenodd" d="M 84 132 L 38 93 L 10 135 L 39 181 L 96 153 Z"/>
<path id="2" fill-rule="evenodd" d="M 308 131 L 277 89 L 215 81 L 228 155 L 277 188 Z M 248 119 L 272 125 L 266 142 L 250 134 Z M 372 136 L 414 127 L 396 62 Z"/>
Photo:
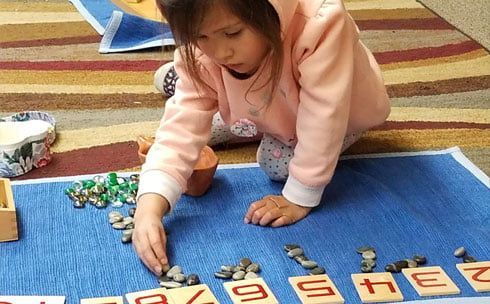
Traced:
<path id="1" fill-rule="evenodd" d="M 311 208 L 291 203 L 282 195 L 268 195 L 248 208 L 243 222 L 260 226 L 281 227 L 305 218 Z"/>

